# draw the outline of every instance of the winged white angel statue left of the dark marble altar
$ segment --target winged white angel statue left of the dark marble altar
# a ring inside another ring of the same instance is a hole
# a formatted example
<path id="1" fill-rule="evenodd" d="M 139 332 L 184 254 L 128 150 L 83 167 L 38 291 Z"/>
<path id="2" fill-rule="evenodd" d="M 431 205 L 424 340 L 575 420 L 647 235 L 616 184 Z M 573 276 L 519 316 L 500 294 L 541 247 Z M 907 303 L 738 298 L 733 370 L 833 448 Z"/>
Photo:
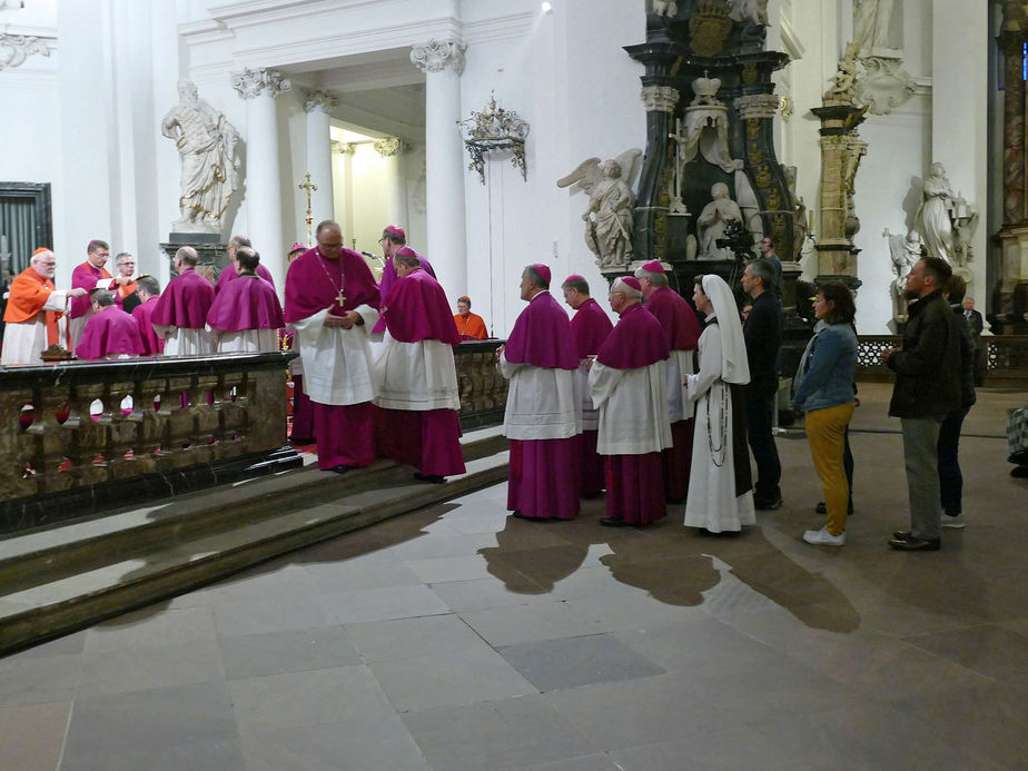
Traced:
<path id="1" fill-rule="evenodd" d="M 622 268 L 632 260 L 632 227 L 635 196 L 631 184 L 635 179 L 642 150 L 633 148 L 617 158 L 583 160 L 574 171 L 557 180 L 557 187 L 575 182 L 589 194 L 585 220 L 585 245 L 596 255 L 596 265 Z"/>

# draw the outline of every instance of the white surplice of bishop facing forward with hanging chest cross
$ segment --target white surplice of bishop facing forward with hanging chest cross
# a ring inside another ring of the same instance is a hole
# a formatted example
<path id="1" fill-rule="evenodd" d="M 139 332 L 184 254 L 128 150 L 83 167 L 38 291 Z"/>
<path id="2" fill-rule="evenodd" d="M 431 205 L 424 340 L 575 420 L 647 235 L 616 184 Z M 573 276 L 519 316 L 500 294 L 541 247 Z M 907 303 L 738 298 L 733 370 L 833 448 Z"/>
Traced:
<path id="1" fill-rule="evenodd" d="M 304 391 L 318 404 L 362 404 L 375 398 L 368 332 L 378 320 L 369 305 L 354 308 L 363 325 L 326 327 L 328 308 L 293 323 L 304 360 Z"/>

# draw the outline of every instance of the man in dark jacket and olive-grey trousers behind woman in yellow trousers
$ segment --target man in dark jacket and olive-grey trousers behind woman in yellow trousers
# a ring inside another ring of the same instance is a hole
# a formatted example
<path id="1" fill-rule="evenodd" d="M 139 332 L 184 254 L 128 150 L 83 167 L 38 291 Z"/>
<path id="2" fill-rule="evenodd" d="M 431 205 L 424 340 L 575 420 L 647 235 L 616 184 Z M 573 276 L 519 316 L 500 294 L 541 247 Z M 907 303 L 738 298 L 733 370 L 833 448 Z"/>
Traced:
<path id="1" fill-rule="evenodd" d="M 910 530 L 897 531 L 889 545 L 901 551 L 939 548 L 938 443 L 942 418 L 960 409 L 960 333 L 942 296 L 953 271 L 946 260 L 923 257 L 907 276 L 910 305 L 901 350 L 881 353 L 896 373 L 889 415 L 900 418 L 910 497 Z"/>

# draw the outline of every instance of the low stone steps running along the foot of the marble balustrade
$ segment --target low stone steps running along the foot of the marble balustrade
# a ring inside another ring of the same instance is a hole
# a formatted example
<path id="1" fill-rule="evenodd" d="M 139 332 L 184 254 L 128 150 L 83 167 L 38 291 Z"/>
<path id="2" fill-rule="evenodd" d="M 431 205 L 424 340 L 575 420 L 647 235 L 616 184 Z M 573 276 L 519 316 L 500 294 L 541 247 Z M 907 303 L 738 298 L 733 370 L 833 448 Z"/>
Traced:
<path id="1" fill-rule="evenodd" d="M 254 481 L 247 484 L 255 493 L 261 490 L 259 495 L 246 498 L 251 512 L 245 524 L 221 515 L 220 510 L 226 507 L 221 493 L 226 491 L 216 490 L 200 496 L 207 500 L 211 521 L 219 523 L 216 527 L 190 526 L 174 540 L 152 543 L 150 527 L 140 525 L 137 518 L 128 530 L 142 526 L 142 541 L 148 545 L 130 556 L 106 548 L 108 540 L 128 537 L 110 528 L 106 535 L 90 533 L 86 537 L 88 546 L 77 542 L 51 545 L 45 550 L 55 564 L 48 577 L 31 582 L 22 579 L 22 584 L 30 585 L 0 596 L 0 655 L 191 591 L 293 550 L 502 482 L 507 469 L 505 444 L 496 436 L 472 439 L 465 445 L 467 472 L 441 485 L 415 482 L 408 467 L 386 467 L 387 464 L 363 469 L 363 480 L 347 480 L 354 472 L 338 477 L 316 471 L 305 474 L 305 469 Z M 503 449 L 488 453 L 497 446 Z M 287 477 L 284 487 L 270 484 Z M 335 478 L 322 483 L 324 477 Z M 306 497 L 297 493 L 304 482 L 309 482 L 314 491 Z M 286 495 L 296 493 L 291 498 L 295 504 L 284 505 L 269 487 L 285 491 Z M 189 503 L 194 512 L 190 518 L 202 518 L 199 502 Z M 144 511 L 146 517 L 150 510 L 137 511 Z M 130 514 L 116 516 L 131 520 Z M 92 566 L 68 573 L 69 564 L 83 563 L 81 553 L 90 547 L 107 559 L 95 559 Z M 72 554 L 67 563 L 62 552 Z M 26 564 L 33 566 L 46 560 L 37 553 L 26 559 Z M 16 556 L 8 554 L 4 562 L 8 573 L 19 573 Z"/>

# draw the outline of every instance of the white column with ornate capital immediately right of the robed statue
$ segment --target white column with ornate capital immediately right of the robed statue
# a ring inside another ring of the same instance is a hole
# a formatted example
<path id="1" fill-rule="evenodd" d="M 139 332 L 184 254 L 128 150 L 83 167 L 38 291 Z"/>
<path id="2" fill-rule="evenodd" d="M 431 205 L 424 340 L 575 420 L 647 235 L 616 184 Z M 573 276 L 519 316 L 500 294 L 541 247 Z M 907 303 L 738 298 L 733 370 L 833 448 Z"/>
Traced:
<path id="1" fill-rule="evenodd" d="M 283 236 L 275 97 L 291 87 L 274 70 L 245 69 L 233 75 L 233 88 L 246 100 L 246 235 L 271 271 L 279 293 L 285 290 L 286 249 L 293 241 L 286 244 Z"/>

